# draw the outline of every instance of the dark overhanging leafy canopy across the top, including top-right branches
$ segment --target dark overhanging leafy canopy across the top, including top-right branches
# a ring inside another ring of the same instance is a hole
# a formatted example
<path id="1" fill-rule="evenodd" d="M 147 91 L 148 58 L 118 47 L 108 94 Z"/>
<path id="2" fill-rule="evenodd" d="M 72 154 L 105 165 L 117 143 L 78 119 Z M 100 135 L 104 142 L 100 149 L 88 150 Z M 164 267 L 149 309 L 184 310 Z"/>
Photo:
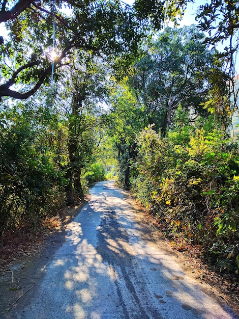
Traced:
<path id="1" fill-rule="evenodd" d="M 160 29 L 167 20 L 176 22 L 189 2 L 137 0 L 131 7 L 121 1 L 104 0 L 58 0 L 50 4 L 46 0 L 1 0 L 0 22 L 5 23 L 10 34 L 9 39 L 1 40 L 0 98 L 25 99 L 33 95 L 49 82 L 52 65 L 57 73 L 68 63 L 73 48 L 113 58 L 115 66 L 116 57 L 124 59 L 120 68 L 127 68 L 147 30 L 152 26 Z M 206 43 L 229 39 L 219 58 L 232 67 L 238 46 L 237 2 L 212 0 L 200 6 L 197 19 L 201 30 L 209 32 Z"/>

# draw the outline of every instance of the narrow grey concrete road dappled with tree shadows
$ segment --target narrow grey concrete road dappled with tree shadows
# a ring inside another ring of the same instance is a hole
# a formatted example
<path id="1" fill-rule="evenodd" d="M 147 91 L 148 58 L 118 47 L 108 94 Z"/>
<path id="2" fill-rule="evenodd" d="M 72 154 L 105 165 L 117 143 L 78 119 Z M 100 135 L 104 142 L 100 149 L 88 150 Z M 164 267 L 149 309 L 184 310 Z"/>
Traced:
<path id="1" fill-rule="evenodd" d="M 66 243 L 18 319 L 227 319 L 176 258 L 140 236 L 136 212 L 113 182 L 100 182 L 69 224 Z"/>

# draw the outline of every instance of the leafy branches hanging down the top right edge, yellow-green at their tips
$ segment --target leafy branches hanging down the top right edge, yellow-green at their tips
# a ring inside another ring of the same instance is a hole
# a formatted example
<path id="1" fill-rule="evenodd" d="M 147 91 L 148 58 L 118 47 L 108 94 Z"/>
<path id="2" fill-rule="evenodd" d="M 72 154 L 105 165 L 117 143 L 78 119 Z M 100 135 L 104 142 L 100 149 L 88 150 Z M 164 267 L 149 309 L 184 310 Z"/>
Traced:
<path id="1" fill-rule="evenodd" d="M 212 49 L 214 49 L 215 66 L 222 66 L 227 73 L 227 78 L 225 79 L 224 75 L 220 76 L 217 71 L 215 72 L 215 68 L 210 71 L 211 75 L 216 78 L 213 88 L 216 94 L 212 92 L 211 100 L 213 103 L 207 105 L 210 112 L 216 111 L 218 115 L 220 114 L 220 122 L 225 123 L 226 114 L 233 109 L 237 109 L 238 87 L 235 83 L 235 63 L 236 52 L 238 51 L 238 1 L 220 0 L 205 3 L 199 7 L 196 20 L 200 30 L 207 32 L 208 36 L 205 38 L 204 43 L 210 44 Z M 218 44 L 224 45 L 223 50 L 217 48 Z M 228 91 L 227 100 L 218 101 L 218 92 L 221 90 Z M 217 101 L 216 107 L 215 100 Z M 220 108 L 223 102 L 227 104 L 224 109 Z"/>

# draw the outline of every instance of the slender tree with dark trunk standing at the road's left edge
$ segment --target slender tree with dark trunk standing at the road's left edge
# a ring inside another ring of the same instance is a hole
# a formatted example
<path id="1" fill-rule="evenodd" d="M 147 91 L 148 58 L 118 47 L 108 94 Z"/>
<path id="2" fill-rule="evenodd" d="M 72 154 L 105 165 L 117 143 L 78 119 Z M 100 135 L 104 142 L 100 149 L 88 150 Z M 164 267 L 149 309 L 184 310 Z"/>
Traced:
<path id="1" fill-rule="evenodd" d="M 68 77 L 64 78 L 63 96 L 68 96 L 68 156 L 66 169 L 66 197 L 68 203 L 74 202 L 74 192 L 83 196 L 81 172 L 89 162 L 97 145 L 97 134 L 105 117 L 100 103 L 106 99 L 106 69 L 91 54 L 78 60 L 72 56 Z M 74 189 L 73 189 L 74 187 Z"/>

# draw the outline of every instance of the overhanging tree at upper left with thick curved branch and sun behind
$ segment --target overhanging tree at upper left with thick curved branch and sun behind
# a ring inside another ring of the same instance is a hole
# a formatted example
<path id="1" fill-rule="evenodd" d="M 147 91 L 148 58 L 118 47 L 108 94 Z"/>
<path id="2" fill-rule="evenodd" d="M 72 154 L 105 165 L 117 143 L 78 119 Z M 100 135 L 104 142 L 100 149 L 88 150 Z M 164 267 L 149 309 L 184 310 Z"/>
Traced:
<path id="1" fill-rule="evenodd" d="M 63 12 L 64 5 L 70 8 L 71 15 Z M 32 96 L 49 81 L 52 67 L 57 76 L 56 71 L 68 64 L 73 48 L 91 50 L 95 55 L 126 57 L 137 51 L 142 36 L 133 10 L 119 1 L 19 1 L 11 7 L 3 0 L 1 17 L 7 20 L 10 40 L 0 47 L 4 79 L 0 97 Z"/>

